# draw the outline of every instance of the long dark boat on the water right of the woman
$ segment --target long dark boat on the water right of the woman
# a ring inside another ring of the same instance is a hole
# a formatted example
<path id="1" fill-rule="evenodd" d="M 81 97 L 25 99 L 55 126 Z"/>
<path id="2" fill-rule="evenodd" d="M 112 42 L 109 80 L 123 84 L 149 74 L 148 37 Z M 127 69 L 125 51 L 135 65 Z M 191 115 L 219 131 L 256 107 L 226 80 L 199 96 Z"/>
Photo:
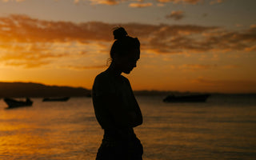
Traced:
<path id="1" fill-rule="evenodd" d="M 206 102 L 210 94 L 168 95 L 163 102 Z"/>

